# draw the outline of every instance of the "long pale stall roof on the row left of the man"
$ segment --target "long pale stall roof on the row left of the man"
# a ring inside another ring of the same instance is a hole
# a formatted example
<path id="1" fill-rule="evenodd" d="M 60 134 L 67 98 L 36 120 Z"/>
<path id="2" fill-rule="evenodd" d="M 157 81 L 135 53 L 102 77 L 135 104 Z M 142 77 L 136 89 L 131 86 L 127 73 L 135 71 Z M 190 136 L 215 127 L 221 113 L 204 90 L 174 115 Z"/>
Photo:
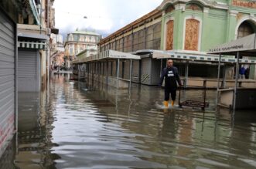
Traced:
<path id="1" fill-rule="evenodd" d="M 141 59 L 140 56 L 133 55 L 128 52 L 118 52 L 115 50 L 106 50 L 104 52 L 100 52 L 97 55 L 89 56 L 82 59 L 76 59 L 72 63 L 87 63 L 91 61 L 96 61 L 100 59 Z"/>

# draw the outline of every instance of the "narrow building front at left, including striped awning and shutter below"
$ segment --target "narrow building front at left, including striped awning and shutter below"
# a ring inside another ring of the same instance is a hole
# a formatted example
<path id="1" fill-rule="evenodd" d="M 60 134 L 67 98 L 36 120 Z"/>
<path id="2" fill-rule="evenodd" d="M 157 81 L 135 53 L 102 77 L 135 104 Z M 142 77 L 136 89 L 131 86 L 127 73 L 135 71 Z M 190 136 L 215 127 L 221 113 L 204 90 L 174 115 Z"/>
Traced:
<path id="1" fill-rule="evenodd" d="M 49 35 L 54 29 L 54 0 L 32 1 L 31 12 L 19 14 L 19 91 L 39 91 L 49 76 Z"/>

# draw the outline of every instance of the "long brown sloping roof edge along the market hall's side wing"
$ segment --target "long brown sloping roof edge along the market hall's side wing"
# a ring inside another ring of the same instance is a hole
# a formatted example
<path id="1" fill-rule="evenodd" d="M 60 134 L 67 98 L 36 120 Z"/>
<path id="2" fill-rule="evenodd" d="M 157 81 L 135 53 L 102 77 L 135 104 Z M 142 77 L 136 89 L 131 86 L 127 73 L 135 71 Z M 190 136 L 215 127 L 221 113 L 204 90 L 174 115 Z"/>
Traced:
<path id="1" fill-rule="evenodd" d="M 143 15 L 141 18 L 139 19 L 136 19 L 134 22 L 131 22 L 130 24 L 126 25 L 125 27 L 121 28 L 121 29 L 118 29 L 118 31 L 112 33 L 111 35 L 108 35 L 106 38 L 104 39 L 101 39 L 101 41 L 99 42 L 99 44 L 102 44 L 106 41 L 108 41 L 108 39 L 111 39 L 114 37 L 114 35 L 117 35 L 118 33 L 121 33 L 123 31 L 125 31 L 126 29 L 130 29 L 132 26 L 138 24 L 139 22 L 142 22 L 142 21 L 145 21 L 145 19 L 148 19 L 150 17 L 152 17 L 153 15 L 161 15 L 162 16 L 162 12 L 159 10 L 159 9 L 155 9 L 153 10 L 152 12 L 149 12 L 148 14 L 146 15 Z"/>

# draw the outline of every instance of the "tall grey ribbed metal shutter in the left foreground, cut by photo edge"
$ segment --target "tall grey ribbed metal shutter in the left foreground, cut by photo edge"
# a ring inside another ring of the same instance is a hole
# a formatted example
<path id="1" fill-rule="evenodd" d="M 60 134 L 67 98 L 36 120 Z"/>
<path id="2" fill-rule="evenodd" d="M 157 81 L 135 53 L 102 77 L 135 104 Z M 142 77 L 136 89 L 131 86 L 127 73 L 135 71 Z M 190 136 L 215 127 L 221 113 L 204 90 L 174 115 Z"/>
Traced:
<path id="1" fill-rule="evenodd" d="M 0 11 L 0 154 L 14 130 L 15 39 L 15 25 Z"/>

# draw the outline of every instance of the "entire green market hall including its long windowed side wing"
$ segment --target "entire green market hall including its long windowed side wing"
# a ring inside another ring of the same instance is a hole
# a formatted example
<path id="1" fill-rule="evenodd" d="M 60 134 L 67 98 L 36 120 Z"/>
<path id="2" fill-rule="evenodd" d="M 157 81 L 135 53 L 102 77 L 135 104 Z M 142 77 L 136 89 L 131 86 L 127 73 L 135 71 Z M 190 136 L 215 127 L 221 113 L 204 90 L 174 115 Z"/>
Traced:
<path id="1" fill-rule="evenodd" d="M 99 47 L 101 51 L 158 49 L 204 57 L 214 46 L 256 32 L 255 9 L 256 2 L 245 0 L 165 0 L 154 11 L 102 39 Z M 189 64 L 190 76 L 217 76 L 213 64 Z M 232 66 L 229 68 L 232 72 Z M 255 75 L 251 66 L 251 79 Z"/>

